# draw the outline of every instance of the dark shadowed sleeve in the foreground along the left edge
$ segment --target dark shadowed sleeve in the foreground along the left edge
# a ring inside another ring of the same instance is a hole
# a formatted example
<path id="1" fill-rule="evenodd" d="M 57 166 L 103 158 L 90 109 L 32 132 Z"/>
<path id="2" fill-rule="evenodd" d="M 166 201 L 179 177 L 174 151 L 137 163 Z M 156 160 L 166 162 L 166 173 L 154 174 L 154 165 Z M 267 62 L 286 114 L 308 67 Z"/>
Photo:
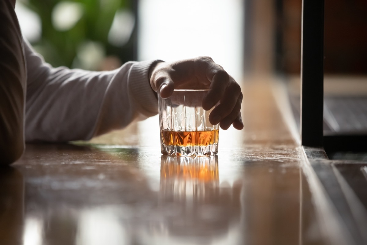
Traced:
<path id="1" fill-rule="evenodd" d="M 14 3 L 0 1 L 0 165 L 16 161 L 24 149 L 26 68 Z"/>

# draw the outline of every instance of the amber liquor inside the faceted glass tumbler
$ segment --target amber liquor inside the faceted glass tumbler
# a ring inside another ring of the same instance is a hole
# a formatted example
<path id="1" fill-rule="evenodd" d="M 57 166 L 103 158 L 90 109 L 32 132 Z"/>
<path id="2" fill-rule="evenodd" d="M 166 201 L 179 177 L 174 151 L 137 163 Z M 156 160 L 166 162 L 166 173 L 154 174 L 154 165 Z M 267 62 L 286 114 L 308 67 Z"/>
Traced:
<path id="1" fill-rule="evenodd" d="M 218 143 L 219 129 L 211 131 L 161 131 L 165 145 L 212 145 Z"/>

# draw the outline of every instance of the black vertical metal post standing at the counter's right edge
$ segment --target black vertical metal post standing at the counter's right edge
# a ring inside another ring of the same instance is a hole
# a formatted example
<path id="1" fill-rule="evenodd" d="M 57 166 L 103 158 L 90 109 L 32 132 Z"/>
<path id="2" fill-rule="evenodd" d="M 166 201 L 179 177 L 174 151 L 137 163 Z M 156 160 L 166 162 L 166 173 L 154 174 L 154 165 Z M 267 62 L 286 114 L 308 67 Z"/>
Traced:
<path id="1" fill-rule="evenodd" d="M 302 0 L 302 145 L 323 146 L 324 0 Z"/>

